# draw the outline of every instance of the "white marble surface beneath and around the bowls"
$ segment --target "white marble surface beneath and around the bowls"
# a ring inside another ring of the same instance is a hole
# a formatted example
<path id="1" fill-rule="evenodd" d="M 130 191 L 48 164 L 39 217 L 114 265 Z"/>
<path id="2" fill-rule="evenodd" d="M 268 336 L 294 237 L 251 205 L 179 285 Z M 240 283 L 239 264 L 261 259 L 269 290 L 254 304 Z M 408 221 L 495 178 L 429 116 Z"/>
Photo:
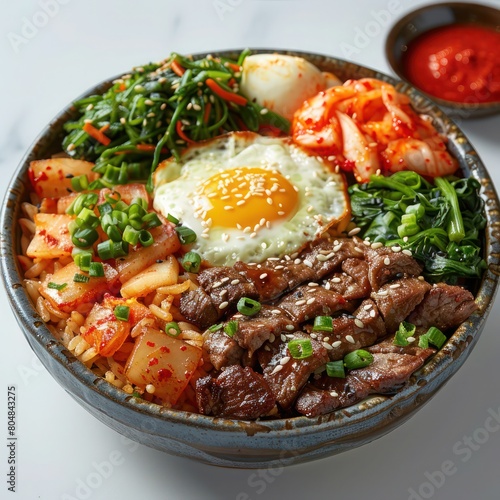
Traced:
<path id="1" fill-rule="evenodd" d="M 23 152 L 42 127 L 97 81 L 172 50 L 246 46 L 350 57 L 388 72 L 383 52 L 388 24 L 422 3 L 2 1 L 0 192 L 5 192 Z M 498 0 L 490 3 L 500 6 Z M 44 14 L 44 5 L 49 14 Z M 362 39 L 362 32 L 370 36 Z M 464 122 L 463 129 L 500 184 L 500 116 Z M 500 412 L 498 300 L 465 365 L 410 421 L 340 456 L 262 471 L 214 468 L 125 443 L 79 407 L 40 366 L 3 290 L 0 312 L 0 498 L 499 498 L 500 425 L 485 428 L 492 424 L 490 412 Z M 17 386 L 18 395 L 15 495 L 9 495 L 6 482 L 9 385 Z M 110 460 L 112 470 L 97 472 L 99 464 Z M 448 475 L 436 472 L 450 461 Z"/>

